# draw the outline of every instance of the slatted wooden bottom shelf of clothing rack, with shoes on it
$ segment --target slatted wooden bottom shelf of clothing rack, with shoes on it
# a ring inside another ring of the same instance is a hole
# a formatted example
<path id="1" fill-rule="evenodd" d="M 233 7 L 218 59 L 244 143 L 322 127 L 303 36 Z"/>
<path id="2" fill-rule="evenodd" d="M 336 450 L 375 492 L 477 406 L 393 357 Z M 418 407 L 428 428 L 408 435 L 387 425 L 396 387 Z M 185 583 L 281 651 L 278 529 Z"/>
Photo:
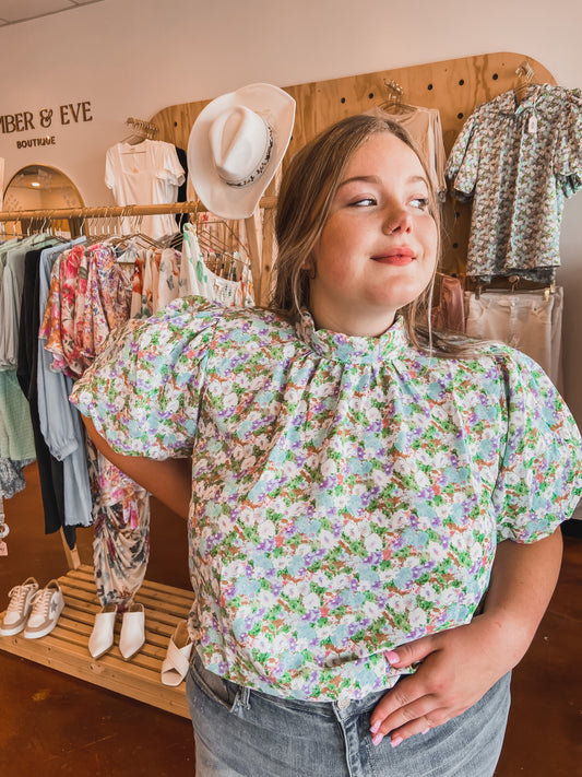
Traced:
<path id="1" fill-rule="evenodd" d="M 169 687 L 162 683 L 162 662 L 176 624 L 188 616 L 192 591 L 144 580 L 135 602 L 145 610 L 145 643 L 130 661 L 119 652 L 121 619 L 117 619 L 115 645 L 98 659 L 88 652 L 88 638 L 100 610 L 93 567 L 82 565 L 59 578 L 64 610 L 54 631 L 41 639 L 21 634 L 0 637 L 0 649 L 44 667 L 136 698 L 168 713 L 189 718 L 185 683 Z"/>

